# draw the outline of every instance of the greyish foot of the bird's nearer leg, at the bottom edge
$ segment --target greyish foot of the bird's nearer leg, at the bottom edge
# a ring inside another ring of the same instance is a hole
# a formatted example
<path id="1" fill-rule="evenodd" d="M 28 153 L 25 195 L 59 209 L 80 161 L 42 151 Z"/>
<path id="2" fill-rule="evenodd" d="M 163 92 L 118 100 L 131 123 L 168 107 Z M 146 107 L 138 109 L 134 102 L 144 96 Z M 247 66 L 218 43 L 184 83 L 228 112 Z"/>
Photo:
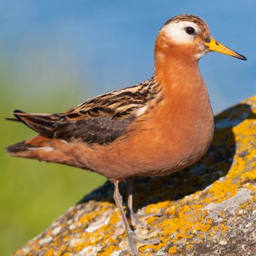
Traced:
<path id="1" fill-rule="evenodd" d="M 146 235 L 141 235 L 139 238 L 137 235 L 134 234 L 133 231 L 128 233 L 128 245 L 132 252 L 132 255 L 138 256 L 139 255 L 139 247 L 144 245 L 158 245 L 161 240 L 157 238 L 153 238 L 151 240 L 146 240 L 147 238 L 151 238 L 154 235 L 159 233 L 159 230 L 155 230 L 154 232 L 148 233 Z"/>

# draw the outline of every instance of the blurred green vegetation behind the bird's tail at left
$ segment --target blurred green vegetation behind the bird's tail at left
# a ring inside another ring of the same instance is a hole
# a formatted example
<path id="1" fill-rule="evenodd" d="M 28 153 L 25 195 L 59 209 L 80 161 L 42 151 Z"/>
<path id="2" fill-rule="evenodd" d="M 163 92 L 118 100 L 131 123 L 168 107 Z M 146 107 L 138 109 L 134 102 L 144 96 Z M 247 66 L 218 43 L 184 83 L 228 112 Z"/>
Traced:
<path id="1" fill-rule="evenodd" d="M 6 154 L 6 146 L 35 134 L 23 124 L 4 120 L 11 117 L 11 110 L 61 112 L 86 99 L 75 83 L 61 81 L 44 88 L 16 80 L 13 85 L 14 80 L 11 68 L 0 66 L 0 255 L 10 255 L 105 181 L 70 166 Z"/>

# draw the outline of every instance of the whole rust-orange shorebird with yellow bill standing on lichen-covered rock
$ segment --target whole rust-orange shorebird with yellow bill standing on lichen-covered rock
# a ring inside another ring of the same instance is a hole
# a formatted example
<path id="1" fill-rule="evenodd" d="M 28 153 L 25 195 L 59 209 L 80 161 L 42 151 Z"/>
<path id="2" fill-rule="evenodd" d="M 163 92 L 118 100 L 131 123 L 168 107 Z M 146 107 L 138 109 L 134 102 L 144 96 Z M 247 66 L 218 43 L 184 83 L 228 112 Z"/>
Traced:
<path id="1" fill-rule="evenodd" d="M 217 51 L 246 60 L 210 36 L 193 15 L 178 15 L 161 27 L 149 80 L 107 92 L 61 114 L 15 110 L 15 118 L 38 132 L 7 148 L 11 156 L 55 162 L 95 171 L 114 183 L 114 201 L 127 231 L 132 255 L 137 245 L 156 244 L 135 235 L 119 193 L 128 179 L 128 209 L 133 225 L 132 178 L 164 176 L 195 163 L 213 139 L 213 112 L 198 60 Z"/>

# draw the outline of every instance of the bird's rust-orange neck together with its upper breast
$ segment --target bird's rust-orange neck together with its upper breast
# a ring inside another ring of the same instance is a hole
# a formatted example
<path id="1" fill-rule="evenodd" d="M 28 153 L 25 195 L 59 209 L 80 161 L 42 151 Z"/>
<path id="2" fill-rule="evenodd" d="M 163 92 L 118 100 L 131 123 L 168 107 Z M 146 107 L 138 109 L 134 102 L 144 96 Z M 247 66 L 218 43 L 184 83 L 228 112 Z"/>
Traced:
<path id="1" fill-rule="evenodd" d="M 196 113 L 201 119 L 212 119 L 210 100 L 198 60 L 189 51 L 156 41 L 155 79 L 163 96 L 159 107 L 163 107 L 163 112 L 168 112 L 170 117 L 175 112 L 173 114 L 180 117 L 192 118 Z"/>

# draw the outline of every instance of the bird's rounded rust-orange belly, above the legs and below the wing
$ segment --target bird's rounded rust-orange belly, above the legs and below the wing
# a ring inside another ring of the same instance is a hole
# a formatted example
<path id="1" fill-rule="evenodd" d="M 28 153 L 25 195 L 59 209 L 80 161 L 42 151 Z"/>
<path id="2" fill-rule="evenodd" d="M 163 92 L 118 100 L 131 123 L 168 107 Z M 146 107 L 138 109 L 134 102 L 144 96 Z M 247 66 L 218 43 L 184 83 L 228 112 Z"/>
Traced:
<path id="1" fill-rule="evenodd" d="M 147 129 L 137 129 L 132 136 L 96 146 L 92 154 L 87 150 L 86 166 L 112 180 L 171 174 L 200 159 L 210 146 L 213 117 L 203 120 L 203 125 L 177 120 L 176 126 L 147 122 Z"/>

